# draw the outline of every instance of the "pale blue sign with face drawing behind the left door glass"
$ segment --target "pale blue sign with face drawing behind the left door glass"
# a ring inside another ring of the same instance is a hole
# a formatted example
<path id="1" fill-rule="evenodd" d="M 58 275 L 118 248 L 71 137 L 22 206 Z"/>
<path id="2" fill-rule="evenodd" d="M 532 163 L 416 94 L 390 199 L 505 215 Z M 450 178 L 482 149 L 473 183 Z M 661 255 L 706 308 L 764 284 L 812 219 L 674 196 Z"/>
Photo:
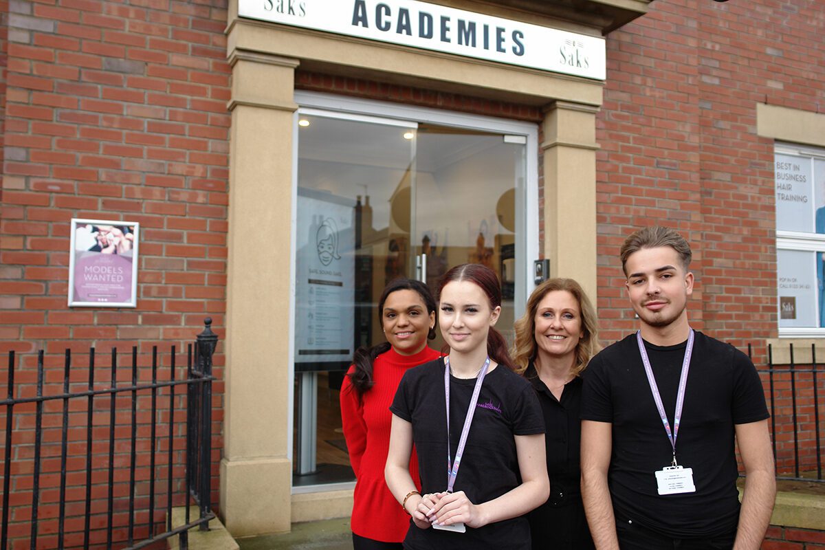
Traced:
<path id="1" fill-rule="evenodd" d="M 355 204 L 307 194 L 299 190 L 295 362 L 350 361 L 355 340 Z"/>

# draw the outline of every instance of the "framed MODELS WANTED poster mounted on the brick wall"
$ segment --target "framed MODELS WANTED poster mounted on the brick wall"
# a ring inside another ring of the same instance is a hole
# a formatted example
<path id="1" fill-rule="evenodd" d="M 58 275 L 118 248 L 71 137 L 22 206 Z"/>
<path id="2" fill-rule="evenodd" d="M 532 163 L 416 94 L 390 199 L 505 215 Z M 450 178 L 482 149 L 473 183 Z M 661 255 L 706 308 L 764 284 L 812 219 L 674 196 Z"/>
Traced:
<path id="1" fill-rule="evenodd" d="M 139 223 L 73 219 L 71 233 L 68 306 L 136 307 Z"/>

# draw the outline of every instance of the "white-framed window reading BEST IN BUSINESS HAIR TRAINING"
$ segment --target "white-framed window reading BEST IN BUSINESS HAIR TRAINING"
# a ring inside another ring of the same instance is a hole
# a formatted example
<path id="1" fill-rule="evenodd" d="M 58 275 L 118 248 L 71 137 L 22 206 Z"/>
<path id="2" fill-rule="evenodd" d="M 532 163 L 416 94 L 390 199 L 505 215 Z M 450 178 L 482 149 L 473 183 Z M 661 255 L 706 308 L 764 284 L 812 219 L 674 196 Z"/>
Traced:
<path id="1" fill-rule="evenodd" d="M 777 144 L 780 336 L 825 336 L 825 149 Z"/>

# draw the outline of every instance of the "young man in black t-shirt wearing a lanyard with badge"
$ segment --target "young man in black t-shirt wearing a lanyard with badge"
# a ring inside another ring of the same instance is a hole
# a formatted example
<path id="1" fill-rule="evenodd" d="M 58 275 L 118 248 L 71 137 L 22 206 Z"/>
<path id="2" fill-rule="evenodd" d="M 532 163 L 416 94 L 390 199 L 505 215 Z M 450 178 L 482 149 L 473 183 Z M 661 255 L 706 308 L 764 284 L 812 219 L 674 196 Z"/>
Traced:
<path id="1" fill-rule="evenodd" d="M 599 550 L 757 550 L 775 497 L 768 412 L 747 355 L 691 330 L 691 248 L 643 228 L 621 248 L 639 334 L 584 376 L 582 497 Z M 734 437 L 745 467 L 742 513 Z"/>

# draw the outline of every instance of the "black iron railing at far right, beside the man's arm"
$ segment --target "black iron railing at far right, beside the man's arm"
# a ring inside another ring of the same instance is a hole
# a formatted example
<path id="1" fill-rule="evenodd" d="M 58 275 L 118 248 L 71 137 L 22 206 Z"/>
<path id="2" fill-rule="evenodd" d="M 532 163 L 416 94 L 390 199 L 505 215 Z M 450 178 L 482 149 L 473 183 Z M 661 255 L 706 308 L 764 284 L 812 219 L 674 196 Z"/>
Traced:
<path id="1" fill-rule="evenodd" d="M 820 398 L 825 382 L 825 365 L 818 364 L 816 347 L 811 360 L 797 364 L 794 345 L 789 344 L 789 361 L 774 364 L 773 346 L 767 347 L 766 367 L 757 367 L 766 382 L 771 411 L 771 440 L 777 479 L 825 482 L 822 464 L 822 435 L 819 421 Z M 748 346 L 748 355 L 752 348 Z M 765 380 L 767 378 L 767 380 Z"/>

